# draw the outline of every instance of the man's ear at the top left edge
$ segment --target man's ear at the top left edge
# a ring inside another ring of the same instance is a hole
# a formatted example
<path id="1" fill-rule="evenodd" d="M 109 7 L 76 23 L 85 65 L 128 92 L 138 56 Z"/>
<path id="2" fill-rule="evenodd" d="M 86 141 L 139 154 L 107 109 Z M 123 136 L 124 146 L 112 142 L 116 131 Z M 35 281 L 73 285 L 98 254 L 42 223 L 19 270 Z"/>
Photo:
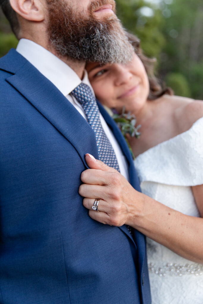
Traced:
<path id="1" fill-rule="evenodd" d="M 10 0 L 12 9 L 26 20 L 43 21 L 45 2 L 39 0 Z"/>

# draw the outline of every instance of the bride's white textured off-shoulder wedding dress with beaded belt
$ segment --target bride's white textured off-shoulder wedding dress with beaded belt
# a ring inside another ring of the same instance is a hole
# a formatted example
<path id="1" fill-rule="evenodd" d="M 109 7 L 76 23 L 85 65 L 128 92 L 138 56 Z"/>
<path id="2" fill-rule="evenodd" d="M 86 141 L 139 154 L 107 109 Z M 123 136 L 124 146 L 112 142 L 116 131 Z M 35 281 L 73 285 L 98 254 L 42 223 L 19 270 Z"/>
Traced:
<path id="1" fill-rule="evenodd" d="M 140 154 L 135 168 L 143 193 L 186 215 L 200 216 L 191 186 L 203 184 L 203 117 L 188 131 Z M 153 304 L 203 304 L 203 265 L 149 238 L 147 256 Z"/>

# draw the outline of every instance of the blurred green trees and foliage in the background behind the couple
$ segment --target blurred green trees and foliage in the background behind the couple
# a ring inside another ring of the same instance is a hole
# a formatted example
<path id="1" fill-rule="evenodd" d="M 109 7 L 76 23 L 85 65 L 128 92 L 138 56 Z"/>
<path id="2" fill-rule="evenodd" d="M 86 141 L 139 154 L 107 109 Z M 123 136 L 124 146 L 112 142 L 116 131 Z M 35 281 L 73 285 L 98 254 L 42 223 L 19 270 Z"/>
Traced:
<path id="1" fill-rule="evenodd" d="M 203 1 L 116 0 L 117 15 L 141 40 L 156 71 L 176 95 L 203 99 Z M 0 11 L 0 57 L 17 40 Z"/>

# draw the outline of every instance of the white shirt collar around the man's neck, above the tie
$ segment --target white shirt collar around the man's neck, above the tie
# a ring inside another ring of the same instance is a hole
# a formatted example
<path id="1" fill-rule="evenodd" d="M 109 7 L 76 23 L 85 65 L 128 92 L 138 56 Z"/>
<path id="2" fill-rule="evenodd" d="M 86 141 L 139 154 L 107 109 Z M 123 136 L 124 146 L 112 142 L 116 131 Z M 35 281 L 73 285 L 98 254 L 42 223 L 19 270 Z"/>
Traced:
<path id="1" fill-rule="evenodd" d="M 65 96 L 70 94 L 81 83 L 81 79 L 72 68 L 44 47 L 31 40 L 20 39 L 16 51 L 36 67 Z M 82 82 L 89 85 L 92 89 L 86 71 Z"/>

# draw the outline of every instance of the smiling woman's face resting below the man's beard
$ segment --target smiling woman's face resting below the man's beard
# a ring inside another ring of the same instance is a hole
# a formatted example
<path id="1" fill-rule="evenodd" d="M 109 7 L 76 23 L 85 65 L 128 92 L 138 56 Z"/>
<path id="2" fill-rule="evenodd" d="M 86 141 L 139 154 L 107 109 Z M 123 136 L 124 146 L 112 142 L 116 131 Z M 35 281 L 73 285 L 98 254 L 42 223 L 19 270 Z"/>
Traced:
<path id="1" fill-rule="evenodd" d="M 90 83 L 98 100 L 121 112 L 137 113 L 149 95 L 149 81 L 142 61 L 134 53 L 128 64 L 89 63 L 86 66 Z"/>

